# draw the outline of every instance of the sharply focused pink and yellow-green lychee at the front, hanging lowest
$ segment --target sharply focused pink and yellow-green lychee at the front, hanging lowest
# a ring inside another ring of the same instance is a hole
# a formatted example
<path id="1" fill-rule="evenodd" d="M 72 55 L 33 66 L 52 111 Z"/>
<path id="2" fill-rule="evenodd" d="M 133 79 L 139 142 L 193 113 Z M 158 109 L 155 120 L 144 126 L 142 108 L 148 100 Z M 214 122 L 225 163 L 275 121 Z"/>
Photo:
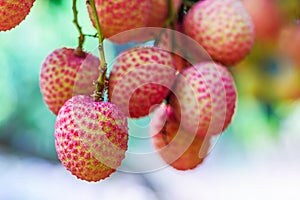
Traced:
<path id="1" fill-rule="evenodd" d="M 59 111 L 55 124 L 55 147 L 59 160 L 77 178 L 105 179 L 125 157 L 127 118 L 109 102 L 95 102 L 78 95 Z"/>

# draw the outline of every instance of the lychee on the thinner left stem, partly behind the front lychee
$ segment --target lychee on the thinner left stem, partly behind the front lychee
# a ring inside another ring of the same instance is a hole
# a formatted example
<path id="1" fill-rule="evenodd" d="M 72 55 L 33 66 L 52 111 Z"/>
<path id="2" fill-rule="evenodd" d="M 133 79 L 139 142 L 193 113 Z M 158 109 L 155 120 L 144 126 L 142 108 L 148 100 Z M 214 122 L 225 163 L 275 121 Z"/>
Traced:
<path id="1" fill-rule="evenodd" d="M 92 54 L 75 55 L 75 49 L 60 48 L 42 63 L 40 90 L 48 108 L 57 115 L 64 103 L 76 94 L 93 94 L 99 59 Z"/>

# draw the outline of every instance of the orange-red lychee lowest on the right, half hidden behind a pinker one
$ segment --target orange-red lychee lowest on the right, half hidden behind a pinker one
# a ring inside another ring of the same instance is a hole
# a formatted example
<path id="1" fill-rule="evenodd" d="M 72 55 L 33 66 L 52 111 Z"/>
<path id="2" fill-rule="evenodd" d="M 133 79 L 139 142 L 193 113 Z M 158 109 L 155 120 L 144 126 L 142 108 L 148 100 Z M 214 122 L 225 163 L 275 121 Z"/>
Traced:
<path id="1" fill-rule="evenodd" d="M 210 146 L 209 140 L 184 131 L 169 105 L 162 105 L 155 111 L 150 133 L 162 159 L 177 170 L 197 167 L 205 159 Z"/>

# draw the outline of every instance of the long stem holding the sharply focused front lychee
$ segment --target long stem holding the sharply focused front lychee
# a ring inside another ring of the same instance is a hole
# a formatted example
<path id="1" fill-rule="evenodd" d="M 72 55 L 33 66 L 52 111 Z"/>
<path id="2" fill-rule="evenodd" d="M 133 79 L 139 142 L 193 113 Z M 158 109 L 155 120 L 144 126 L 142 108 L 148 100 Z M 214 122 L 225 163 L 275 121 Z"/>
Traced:
<path id="1" fill-rule="evenodd" d="M 90 4 L 92 12 L 93 12 L 93 17 L 96 22 L 96 29 L 97 29 L 97 34 L 98 34 L 98 49 L 99 49 L 99 54 L 100 54 L 100 65 L 99 65 L 99 77 L 97 81 L 94 83 L 96 85 L 96 90 L 94 92 L 94 100 L 95 101 L 103 101 L 103 94 L 104 91 L 108 87 L 108 80 L 105 76 L 106 71 L 107 71 L 107 63 L 105 60 L 105 54 L 104 54 L 104 46 L 103 46 L 103 41 L 104 41 L 104 36 L 102 32 L 102 28 L 99 22 L 98 18 L 98 13 L 97 9 L 95 6 L 95 0 L 87 0 L 87 3 Z"/>

